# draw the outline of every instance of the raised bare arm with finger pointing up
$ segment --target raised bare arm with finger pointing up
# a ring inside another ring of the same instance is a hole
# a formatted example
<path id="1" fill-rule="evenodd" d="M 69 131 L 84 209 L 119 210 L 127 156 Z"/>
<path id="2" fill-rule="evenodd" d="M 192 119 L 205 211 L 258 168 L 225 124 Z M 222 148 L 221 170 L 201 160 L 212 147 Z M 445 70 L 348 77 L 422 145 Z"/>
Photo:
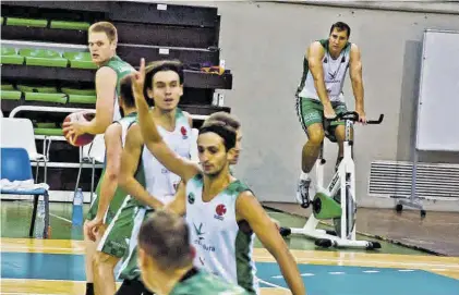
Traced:
<path id="1" fill-rule="evenodd" d="M 138 125 L 142 131 L 144 144 L 170 172 L 176 173 L 186 182 L 200 173 L 200 168 L 197 164 L 182 159 L 162 140 L 144 97 L 144 84 L 145 60 L 142 59 L 140 70 L 133 76 L 132 89 L 137 107 Z"/>

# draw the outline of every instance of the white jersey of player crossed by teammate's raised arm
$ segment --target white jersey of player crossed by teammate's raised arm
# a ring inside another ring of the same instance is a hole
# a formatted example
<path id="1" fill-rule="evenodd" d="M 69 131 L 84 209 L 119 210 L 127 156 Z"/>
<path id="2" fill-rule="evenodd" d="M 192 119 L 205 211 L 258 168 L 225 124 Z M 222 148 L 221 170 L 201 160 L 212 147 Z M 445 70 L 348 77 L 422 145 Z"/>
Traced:
<path id="1" fill-rule="evenodd" d="M 157 126 L 165 143 L 180 157 L 190 159 L 190 149 L 193 136 L 188 118 L 178 109 L 176 114 L 176 128 L 169 132 Z M 159 199 L 162 204 L 168 204 L 176 196 L 177 186 L 181 179 L 170 172 L 159 162 L 146 146 L 142 149 L 141 161 L 135 176 L 146 190 Z"/>

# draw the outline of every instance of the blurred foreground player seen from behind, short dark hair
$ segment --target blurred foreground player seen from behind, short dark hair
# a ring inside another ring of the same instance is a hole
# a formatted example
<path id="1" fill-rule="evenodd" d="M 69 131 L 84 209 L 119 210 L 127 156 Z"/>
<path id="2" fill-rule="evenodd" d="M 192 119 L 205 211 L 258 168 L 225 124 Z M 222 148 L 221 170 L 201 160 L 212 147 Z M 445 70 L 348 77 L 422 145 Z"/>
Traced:
<path id="1" fill-rule="evenodd" d="M 247 295 L 242 287 L 193 267 L 190 230 L 177 214 L 158 211 L 142 224 L 138 266 L 149 291 L 161 295 Z"/>

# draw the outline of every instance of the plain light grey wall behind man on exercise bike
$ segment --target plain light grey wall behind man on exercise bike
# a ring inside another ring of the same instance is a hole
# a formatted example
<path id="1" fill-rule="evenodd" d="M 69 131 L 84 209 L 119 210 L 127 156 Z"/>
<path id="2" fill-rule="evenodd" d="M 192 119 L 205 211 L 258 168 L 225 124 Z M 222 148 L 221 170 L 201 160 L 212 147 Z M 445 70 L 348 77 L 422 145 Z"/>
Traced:
<path id="1" fill-rule="evenodd" d="M 370 164 L 374 160 L 410 160 L 423 30 L 459 30 L 459 14 L 279 2 L 180 3 L 218 7 L 221 59 L 234 75 L 233 89 L 225 93 L 225 102 L 241 119 L 244 132 L 237 174 L 259 199 L 270 201 L 294 198 L 301 148 L 306 140 L 294 110 L 305 48 L 327 37 L 331 23 L 347 22 L 352 29 L 350 40 L 362 50 L 367 116 L 385 114 L 382 125 L 357 126 L 358 201 L 370 207 L 394 206 L 392 200 L 367 196 Z M 435 9 L 442 8 L 438 4 Z M 353 109 L 349 79 L 345 94 Z M 326 145 L 329 165 L 325 175 L 331 173 L 336 150 Z M 422 160 L 459 162 L 457 156 L 428 153 Z"/>

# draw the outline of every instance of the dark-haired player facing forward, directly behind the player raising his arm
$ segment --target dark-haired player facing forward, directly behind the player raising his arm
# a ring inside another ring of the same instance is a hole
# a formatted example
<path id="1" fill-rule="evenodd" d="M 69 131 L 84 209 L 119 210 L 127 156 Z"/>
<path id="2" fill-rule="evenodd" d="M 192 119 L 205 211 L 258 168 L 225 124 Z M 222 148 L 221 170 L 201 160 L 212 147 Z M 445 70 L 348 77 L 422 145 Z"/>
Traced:
<path id="1" fill-rule="evenodd" d="M 161 135 L 181 157 L 190 158 L 192 121 L 177 107 L 183 95 L 182 64 L 176 61 L 153 62 L 147 69 L 147 81 L 145 97 L 154 101 L 152 115 Z M 136 236 L 146 213 L 171 201 L 179 183 L 180 176 L 169 172 L 144 148 L 141 130 L 137 124 L 132 124 L 121 156 L 119 179 L 120 187 L 130 196 L 106 231 L 96 255 L 97 265 L 106 278 L 104 294 L 114 293 L 113 269 L 123 257 L 120 278 L 124 282 L 117 294 L 143 292 L 142 284 L 135 280 L 140 273 L 133 271 L 136 261 L 130 263 Z M 111 281 L 108 281 L 109 276 Z"/>

